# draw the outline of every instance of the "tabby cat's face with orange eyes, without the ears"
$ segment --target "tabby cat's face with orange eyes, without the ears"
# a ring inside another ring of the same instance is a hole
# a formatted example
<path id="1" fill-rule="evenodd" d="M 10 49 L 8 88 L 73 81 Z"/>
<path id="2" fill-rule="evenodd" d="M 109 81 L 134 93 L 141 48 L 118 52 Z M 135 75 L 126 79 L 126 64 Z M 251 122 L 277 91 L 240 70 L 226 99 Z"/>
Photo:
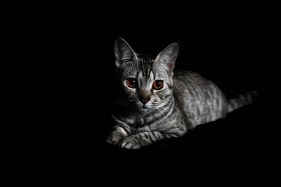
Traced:
<path id="1" fill-rule="evenodd" d="M 171 74 L 155 60 L 138 57 L 125 65 L 119 77 L 128 102 L 144 111 L 167 102 L 173 91 Z"/>

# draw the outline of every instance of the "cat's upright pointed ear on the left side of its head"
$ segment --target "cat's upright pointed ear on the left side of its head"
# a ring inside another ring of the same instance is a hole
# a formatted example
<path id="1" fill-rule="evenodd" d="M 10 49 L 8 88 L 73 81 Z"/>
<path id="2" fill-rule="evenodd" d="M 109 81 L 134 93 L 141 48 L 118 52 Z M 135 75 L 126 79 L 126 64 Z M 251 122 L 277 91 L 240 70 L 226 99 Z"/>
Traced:
<path id="1" fill-rule="evenodd" d="M 115 41 L 115 58 L 116 67 L 122 66 L 122 62 L 133 61 L 137 59 L 136 53 L 122 38 Z"/>

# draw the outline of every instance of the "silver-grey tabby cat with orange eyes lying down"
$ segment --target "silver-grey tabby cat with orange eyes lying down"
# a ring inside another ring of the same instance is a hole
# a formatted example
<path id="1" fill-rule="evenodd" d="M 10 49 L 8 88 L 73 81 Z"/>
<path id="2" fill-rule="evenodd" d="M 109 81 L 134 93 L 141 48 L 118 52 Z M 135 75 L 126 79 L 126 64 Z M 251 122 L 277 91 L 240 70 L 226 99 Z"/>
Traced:
<path id="1" fill-rule="evenodd" d="M 138 55 L 122 38 L 115 42 L 116 72 L 123 98 L 112 112 L 107 142 L 135 149 L 161 139 L 181 137 L 197 125 L 224 118 L 253 102 L 256 92 L 226 99 L 211 81 L 193 71 L 174 71 L 178 43 L 155 59 Z"/>

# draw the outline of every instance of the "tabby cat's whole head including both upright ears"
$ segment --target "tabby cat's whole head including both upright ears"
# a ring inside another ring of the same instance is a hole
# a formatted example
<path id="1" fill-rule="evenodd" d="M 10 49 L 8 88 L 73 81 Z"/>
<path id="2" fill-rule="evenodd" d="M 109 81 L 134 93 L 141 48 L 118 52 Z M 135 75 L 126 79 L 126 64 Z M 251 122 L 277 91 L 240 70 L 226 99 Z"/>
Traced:
<path id="1" fill-rule="evenodd" d="M 148 111 L 169 102 L 173 94 L 173 69 L 178 49 L 178 43 L 172 43 L 153 59 L 136 54 L 124 39 L 117 39 L 117 76 L 130 106 Z"/>

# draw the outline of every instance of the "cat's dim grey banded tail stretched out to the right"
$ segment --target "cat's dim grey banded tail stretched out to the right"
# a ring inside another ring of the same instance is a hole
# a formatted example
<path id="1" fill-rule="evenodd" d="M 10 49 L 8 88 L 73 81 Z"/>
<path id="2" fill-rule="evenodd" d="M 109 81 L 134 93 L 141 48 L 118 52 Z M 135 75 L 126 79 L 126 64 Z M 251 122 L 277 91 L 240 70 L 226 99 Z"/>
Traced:
<path id="1" fill-rule="evenodd" d="M 258 97 L 258 93 L 256 91 L 246 92 L 242 95 L 238 95 L 237 97 L 230 99 L 228 101 L 228 113 L 239 109 L 242 106 L 251 104 Z"/>

